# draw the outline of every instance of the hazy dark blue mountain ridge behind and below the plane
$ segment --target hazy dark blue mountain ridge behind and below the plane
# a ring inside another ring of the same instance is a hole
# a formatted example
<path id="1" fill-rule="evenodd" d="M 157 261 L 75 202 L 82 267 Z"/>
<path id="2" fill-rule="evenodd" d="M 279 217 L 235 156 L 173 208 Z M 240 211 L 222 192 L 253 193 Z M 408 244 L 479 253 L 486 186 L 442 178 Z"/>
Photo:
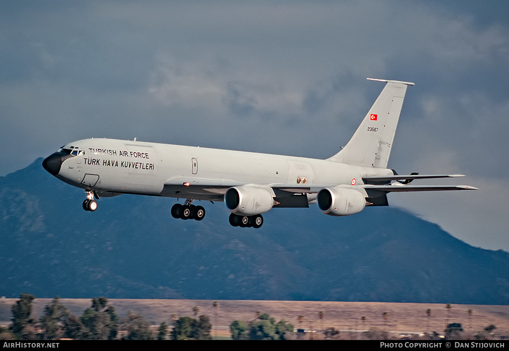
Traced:
<path id="1" fill-rule="evenodd" d="M 222 203 L 174 219 L 162 197 L 86 212 L 41 163 L 0 177 L 0 295 L 509 304 L 508 253 L 399 209 L 273 209 L 261 229 L 231 227 Z"/>

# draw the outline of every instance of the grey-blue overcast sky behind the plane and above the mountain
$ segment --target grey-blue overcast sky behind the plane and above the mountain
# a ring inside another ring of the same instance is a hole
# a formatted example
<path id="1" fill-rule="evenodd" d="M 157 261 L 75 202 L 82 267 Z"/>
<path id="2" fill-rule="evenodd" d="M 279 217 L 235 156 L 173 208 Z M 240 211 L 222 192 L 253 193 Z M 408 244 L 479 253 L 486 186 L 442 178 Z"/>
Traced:
<path id="1" fill-rule="evenodd" d="M 390 205 L 509 251 L 507 18 L 504 0 L 4 0 L 0 175 L 90 137 L 327 158 L 384 86 L 366 78 L 410 81 L 388 166 L 480 190 Z"/>

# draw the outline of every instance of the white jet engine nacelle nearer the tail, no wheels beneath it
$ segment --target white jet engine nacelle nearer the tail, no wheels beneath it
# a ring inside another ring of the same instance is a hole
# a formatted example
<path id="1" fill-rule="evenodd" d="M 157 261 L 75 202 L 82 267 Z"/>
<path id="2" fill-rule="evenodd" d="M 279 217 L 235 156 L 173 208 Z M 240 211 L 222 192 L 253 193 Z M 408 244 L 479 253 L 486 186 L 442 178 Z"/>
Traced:
<path id="1" fill-rule="evenodd" d="M 366 202 L 359 191 L 337 187 L 320 190 L 317 204 L 320 211 L 329 216 L 348 216 L 362 211 Z"/>

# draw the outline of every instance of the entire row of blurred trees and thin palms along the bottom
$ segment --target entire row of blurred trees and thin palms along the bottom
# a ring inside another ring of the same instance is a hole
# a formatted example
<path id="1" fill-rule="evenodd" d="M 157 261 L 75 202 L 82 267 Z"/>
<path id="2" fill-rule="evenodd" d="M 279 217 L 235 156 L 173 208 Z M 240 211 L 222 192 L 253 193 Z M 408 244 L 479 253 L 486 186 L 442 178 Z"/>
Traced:
<path id="1" fill-rule="evenodd" d="M 19 300 L 12 305 L 12 323 L 7 329 L 0 327 L 0 340 L 52 340 L 52 339 L 78 339 L 78 340 L 210 340 L 212 339 L 211 320 L 207 315 L 200 315 L 200 308 L 195 306 L 192 311 L 195 318 L 172 315 L 169 325 L 165 321 L 158 327 L 152 326 L 143 316 L 132 311 L 127 317 L 119 318 L 115 307 L 108 303 L 106 297 L 96 297 L 91 300 L 91 306 L 84 310 L 81 316 L 71 314 L 70 311 L 60 302 L 57 296 L 51 303 L 44 307 L 42 317 L 37 319 L 32 316 L 32 302 L 35 296 L 23 293 Z M 213 303 L 214 321 L 217 320 L 217 309 L 219 304 Z M 443 333 L 425 332 L 417 339 L 461 339 L 466 336 L 462 324 L 450 322 L 451 305 L 445 305 L 447 316 L 445 319 L 445 330 Z M 476 340 L 487 340 L 495 338 L 495 325 L 490 324 L 484 330 L 474 332 L 471 328 L 471 317 L 473 311 L 468 309 L 468 330 L 469 337 Z M 433 315 L 431 309 L 426 310 L 426 330 L 430 329 L 430 319 Z M 361 330 L 340 331 L 334 328 L 325 328 L 323 319 L 325 312 L 318 313 L 319 325 L 317 330 L 311 330 L 309 338 L 318 339 L 389 339 L 386 331 L 389 329 L 389 313 L 383 312 L 383 329 L 374 327 L 366 328 L 366 317 L 360 317 L 362 322 Z M 307 331 L 302 323 L 304 316 L 297 318 L 299 327 L 294 333 L 294 325 L 286 320 L 276 320 L 266 313 L 256 313 L 256 318 L 249 321 L 234 320 L 230 324 L 230 334 L 233 340 L 287 340 L 303 338 Z M 214 322 L 215 323 L 215 322 Z M 157 328 L 157 329 L 156 329 Z M 215 329 L 217 332 L 217 328 Z M 316 334 L 314 334 L 316 332 Z M 347 334 L 348 333 L 348 334 Z M 414 336 L 415 337 L 415 336 Z M 393 336 L 392 336 L 393 338 Z"/>

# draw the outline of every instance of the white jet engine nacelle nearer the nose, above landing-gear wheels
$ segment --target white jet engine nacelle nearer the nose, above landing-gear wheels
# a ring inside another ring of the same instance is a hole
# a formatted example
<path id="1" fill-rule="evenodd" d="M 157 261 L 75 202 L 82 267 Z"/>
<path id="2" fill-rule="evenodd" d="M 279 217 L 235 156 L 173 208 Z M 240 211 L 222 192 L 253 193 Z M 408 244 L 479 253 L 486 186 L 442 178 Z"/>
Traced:
<path id="1" fill-rule="evenodd" d="M 224 193 L 224 204 L 232 213 L 251 216 L 269 211 L 274 200 L 265 188 L 240 186 Z"/>

